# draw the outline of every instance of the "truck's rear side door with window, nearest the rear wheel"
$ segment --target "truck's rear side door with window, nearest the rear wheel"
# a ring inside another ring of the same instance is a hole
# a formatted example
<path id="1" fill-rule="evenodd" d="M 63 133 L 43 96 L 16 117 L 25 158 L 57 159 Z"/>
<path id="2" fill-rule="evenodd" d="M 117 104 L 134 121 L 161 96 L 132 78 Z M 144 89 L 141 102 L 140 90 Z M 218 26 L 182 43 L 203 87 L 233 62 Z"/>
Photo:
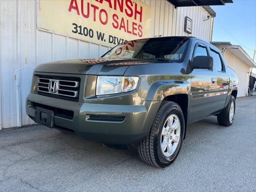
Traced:
<path id="1" fill-rule="evenodd" d="M 229 88 L 229 73 L 219 50 L 210 46 L 210 56 L 213 58 L 213 69 L 216 74 L 216 110 L 224 108 Z"/>

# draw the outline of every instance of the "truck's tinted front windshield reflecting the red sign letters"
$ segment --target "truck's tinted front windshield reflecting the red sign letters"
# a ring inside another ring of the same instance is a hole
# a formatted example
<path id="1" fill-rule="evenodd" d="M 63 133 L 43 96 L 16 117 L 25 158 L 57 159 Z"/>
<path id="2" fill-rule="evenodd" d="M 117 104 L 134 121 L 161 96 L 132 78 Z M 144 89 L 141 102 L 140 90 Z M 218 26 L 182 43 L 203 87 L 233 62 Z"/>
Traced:
<path id="1" fill-rule="evenodd" d="M 163 37 L 123 42 L 102 57 L 182 62 L 188 38 Z"/>

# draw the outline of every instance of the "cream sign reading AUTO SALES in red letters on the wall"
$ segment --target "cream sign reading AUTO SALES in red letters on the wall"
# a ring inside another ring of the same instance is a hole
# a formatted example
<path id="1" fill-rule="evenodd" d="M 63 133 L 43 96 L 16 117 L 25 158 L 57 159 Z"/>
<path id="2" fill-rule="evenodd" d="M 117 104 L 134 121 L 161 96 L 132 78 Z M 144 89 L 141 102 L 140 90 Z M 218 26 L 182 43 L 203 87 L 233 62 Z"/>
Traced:
<path id="1" fill-rule="evenodd" d="M 150 36 L 150 6 L 140 0 L 40 0 L 37 28 L 104 46 Z"/>

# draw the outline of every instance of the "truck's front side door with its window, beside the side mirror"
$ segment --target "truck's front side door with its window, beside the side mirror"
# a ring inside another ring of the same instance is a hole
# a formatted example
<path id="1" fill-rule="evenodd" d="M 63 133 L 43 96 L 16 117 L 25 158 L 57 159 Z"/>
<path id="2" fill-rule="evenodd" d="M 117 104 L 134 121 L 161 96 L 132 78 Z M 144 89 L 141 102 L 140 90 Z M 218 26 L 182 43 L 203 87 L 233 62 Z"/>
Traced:
<path id="1" fill-rule="evenodd" d="M 191 56 L 193 62 L 196 56 L 209 56 L 209 49 L 199 40 L 194 43 Z M 213 69 L 193 69 L 191 72 L 191 100 L 188 122 L 195 122 L 210 116 L 215 110 L 216 75 Z"/>

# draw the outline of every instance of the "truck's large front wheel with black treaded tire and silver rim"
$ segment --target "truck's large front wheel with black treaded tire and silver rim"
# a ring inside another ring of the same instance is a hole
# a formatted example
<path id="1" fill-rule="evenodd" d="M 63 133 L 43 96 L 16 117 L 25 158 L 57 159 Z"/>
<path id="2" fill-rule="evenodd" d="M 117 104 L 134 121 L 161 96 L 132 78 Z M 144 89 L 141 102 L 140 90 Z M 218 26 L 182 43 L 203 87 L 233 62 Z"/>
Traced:
<path id="1" fill-rule="evenodd" d="M 138 144 L 140 158 L 152 166 L 169 166 L 180 152 L 184 130 L 184 116 L 180 106 L 174 102 L 165 102 L 156 114 L 149 135 Z"/>

